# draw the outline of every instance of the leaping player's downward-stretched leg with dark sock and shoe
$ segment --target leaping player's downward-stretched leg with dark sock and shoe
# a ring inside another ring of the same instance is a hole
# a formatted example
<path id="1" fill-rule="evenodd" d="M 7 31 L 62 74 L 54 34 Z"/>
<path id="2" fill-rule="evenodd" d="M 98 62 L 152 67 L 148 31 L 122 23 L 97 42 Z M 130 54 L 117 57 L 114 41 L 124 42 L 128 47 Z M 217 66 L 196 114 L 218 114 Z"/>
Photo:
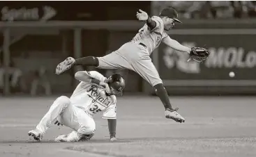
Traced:
<path id="1" fill-rule="evenodd" d="M 177 109 L 174 110 L 172 108 L 169 96 L 163 85 L 163 81 L 160 79 L 156 67 L 153 65 L 151 58 L 146 54 L 146 52 L 141 54 L 140 60 L 133 63 L 133 68 L 135 72 L 140 74 L 140 76 L 149 82 L 155 89 L 156 94 L 165 106 L 165 117 L 174 119 L 176 122 L 183 122 L 185 119 L 176 112 Z"/>

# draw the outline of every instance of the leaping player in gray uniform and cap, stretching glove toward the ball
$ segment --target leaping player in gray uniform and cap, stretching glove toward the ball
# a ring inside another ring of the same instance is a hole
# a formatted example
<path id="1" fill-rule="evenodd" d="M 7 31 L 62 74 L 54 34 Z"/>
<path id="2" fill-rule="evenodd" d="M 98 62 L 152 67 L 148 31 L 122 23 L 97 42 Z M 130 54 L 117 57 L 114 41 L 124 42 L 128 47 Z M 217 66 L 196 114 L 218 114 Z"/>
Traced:
<path id="1" fill-rule="evenodd" d="M 165 106 L 165 117 L 174 119 L 176 122 L 185 122 L 185 119 L 177 113 L 177 109 L 172 108 L 167 91 L 163 85 L 156 67 L 151 62 L 150 55 L 156 49 L 160 42 L 178 51 L 186 52 L 190 59 L 201 62 L 209 56 L 209 51 L 201 47 L 185 47 L 176 40 L 170 38 L 165 31 L 174 27 L 175 22 L 181 23 L 177 19 L 178 13 L 174 8 L 165 8 L 159 16 L 149 17 L 146 12 L 139 10 L 137 19 L 146 22 L 133 40 L 123 44 L 118 50 L 103 56 L 88 56 L 74 59 L 66 58 L 59 63 L 56 68 L 56 74 L 61 74 L 74 65 L 95 66 L 102 69 L 131 69 L 142 78 L 148 81 L 156 91 L 158 97 Z"/>

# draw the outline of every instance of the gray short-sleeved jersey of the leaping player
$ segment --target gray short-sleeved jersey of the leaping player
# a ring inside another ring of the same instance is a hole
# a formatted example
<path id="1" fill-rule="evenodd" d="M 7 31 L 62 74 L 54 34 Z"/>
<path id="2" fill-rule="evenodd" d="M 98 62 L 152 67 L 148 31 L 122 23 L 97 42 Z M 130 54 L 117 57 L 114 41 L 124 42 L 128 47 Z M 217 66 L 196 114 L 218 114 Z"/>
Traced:
<path id="1" fill-rule="evenodd" d="M 149 26 L 144 24 L 133 38 L 133 41 L 145 44 L 149 54 L 151 54 L 152 51 L 159 46 L 160 42 L 167 37 L 167 33 L 164 31 L 163 20 L 157 16 L 153 16 L 151 19 L 156 22 L 156 27 L 153 28 L 153 30 L 150 30 Z"/>

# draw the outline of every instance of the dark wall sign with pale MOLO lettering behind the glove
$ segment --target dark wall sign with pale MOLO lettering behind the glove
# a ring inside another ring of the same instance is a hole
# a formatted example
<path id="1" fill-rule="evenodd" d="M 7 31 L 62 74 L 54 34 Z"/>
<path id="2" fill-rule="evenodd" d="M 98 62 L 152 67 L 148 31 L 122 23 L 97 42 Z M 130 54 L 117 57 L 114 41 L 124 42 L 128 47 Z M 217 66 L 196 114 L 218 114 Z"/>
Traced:
<path id="1" fill-rule="evenodd" d="M 165 44 L 158 49 L 158 72 L 166 85 L 256 85 L 255 35 L 170 35 L 188 47 L 211 52 L 204 63 L 187 62 L 188 54 Z M 229 72 L 235 72 L 234 78 Z M 190 83 L 188 83 L 188 81 Z"/>

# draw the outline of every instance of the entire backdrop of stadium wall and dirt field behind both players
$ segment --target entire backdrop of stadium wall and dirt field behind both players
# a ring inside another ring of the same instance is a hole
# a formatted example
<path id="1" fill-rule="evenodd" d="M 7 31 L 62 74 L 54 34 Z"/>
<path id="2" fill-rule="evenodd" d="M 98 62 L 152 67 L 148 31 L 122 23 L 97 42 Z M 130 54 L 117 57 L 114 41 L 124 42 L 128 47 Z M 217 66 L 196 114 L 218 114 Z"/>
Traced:
<path id="1" fill-rule="evenodd" d="M 0 1 L 0 156 L 255 157 L 256 99 L 240 97 L 255 93 L 253 3 Z M 52 126 L 40 142 L 27 135 L 52 102 L 70 96 L 77 84 L 74 72 L 84 67 L 56 75 L 61 60 L 117 49 L 143 25 L 135 17 L 139 8 L 158 15 L 166 6 L 179 10 L 183 22 L 170 36 L 190 46 L 206 44 L 212 52 L 200 65 L 186 63 L 187 56 L 163 44 L 153 53 L 168 92 L 184 95 L 170 100 L 185 123 L 164 117 L 159 98 L 151 97 L 152 88 L 135 72 L 118 70 L 127 85 L 118 98 L 117 142 L 110 142 L 100 113 L 93 117 L 96 134 L 88 142 L 54 142 L 57 135 L 72 131 L 66 126 Z M 230 71 L 236 73 L 234 78 L 229 78 Z M 213 97 L 206 97 L 209 94 Z M 232 96 L 221 97 L 224 94 Z"/>

